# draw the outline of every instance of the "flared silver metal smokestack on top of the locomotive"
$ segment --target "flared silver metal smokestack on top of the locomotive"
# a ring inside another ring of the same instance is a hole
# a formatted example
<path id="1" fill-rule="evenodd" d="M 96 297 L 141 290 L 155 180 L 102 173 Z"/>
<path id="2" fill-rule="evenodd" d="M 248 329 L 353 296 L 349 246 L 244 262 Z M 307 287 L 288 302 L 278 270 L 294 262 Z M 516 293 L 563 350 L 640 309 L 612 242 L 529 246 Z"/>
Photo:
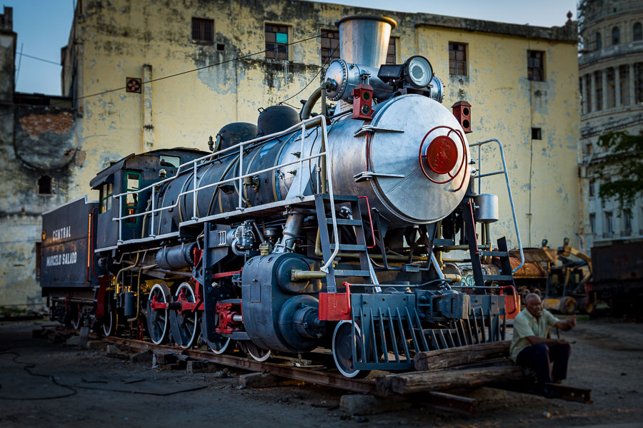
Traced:
<path id="1" fill-rule="evenodd" d="M 379 68 L 387 62 L 394 19 L 376 15 L 349 15 L 337 21 L 342 58 L 348 63 Z"/>

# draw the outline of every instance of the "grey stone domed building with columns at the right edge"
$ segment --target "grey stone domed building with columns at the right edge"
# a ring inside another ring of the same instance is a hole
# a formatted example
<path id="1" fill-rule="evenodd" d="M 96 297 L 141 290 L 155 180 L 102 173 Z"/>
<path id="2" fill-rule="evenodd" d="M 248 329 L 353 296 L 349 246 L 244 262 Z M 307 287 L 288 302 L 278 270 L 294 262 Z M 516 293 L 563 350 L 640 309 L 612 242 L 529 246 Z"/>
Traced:
<path id="1" fill-rule="evenodd" d="M 579 90 L 583 225 L 582 248 L 643 239 L 643 201 L 620 208 L 599 198 L 599 186 L 617 179 L 596 178 L 597 165 L 608 153 L 597 146 L 611 131 L 643 132 L 643 1 L 582 0 L 578 7 L 582 49 Z M 612 175 L 611 177 L 609 175 Z"/>

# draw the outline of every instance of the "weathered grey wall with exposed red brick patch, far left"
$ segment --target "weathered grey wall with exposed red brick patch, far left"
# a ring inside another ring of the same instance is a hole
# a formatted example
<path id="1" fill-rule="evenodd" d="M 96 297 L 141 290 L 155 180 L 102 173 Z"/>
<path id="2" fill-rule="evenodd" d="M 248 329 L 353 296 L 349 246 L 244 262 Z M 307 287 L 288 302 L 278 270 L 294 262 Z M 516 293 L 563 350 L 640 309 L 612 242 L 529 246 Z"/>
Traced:
<path id="1" fill-rule="evenodd" d="M 0 306 L 38 307 L 41 213 L 69 200 L 84 156 L 75 148 L 70 109 L 14 104 L 0 118 Z M 39 193 L 44 175 L 51 178 L 49 194 Z"/>

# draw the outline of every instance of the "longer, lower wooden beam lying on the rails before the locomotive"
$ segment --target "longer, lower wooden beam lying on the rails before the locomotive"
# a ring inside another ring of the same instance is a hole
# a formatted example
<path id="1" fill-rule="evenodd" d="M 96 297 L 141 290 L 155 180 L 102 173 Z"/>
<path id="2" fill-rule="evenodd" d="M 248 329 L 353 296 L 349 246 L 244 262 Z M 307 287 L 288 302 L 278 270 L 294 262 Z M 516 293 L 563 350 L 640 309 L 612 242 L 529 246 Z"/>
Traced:
<path id="1" fill-rule="evenodd" d="M 392 391 L 397 394 L 442 391 L 446 389 L 482 387 L 498 382 L 521 382 L 527 379 L 517 365 L 479 367 L 468 370 L 442 370 L 435 372 L 412 372 L 389 374 L 377 378 L 379 391 Z"/>

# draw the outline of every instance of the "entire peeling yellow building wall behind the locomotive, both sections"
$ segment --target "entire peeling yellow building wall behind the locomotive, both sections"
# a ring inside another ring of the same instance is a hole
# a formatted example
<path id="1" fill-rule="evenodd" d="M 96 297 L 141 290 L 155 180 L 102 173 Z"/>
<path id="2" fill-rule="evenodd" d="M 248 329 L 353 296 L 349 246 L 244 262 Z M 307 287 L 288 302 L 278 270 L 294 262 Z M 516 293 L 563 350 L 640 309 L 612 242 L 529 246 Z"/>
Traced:
<path id="1" fill-rule="evenodd" d="M 154 79 L 203 68 L 149 83 L 154 126 L 153 148 L 186 146 L 206 149 L 226 123 L 256 123 L 257 109 L 294 95 L 314 78 L 320 65 L 319 38 L 291 46 L 291 61 L 267 60 L 261 52 L 264 24 L 286 24 L 290 41 L 334 29 L 334 20 L 356 13 L 379 13 L 306 1 L 184 1 L 159 6 L 146 1 L 83 1 L 76 16 L 81 41 L 82 117 L 79 140 L 86 161 L 74 176 L 75 198 L 89 193 L 98 170 L 144 145 L 144 96 L 126 93 L 126 77 L 143 77 L 149 64 Z M 472 103 L 473 133 L 469 143 L 489 138 L 502 141 L 514 193 L 522 241 L 539 245 L 542 238 L 559 245 L 568 236 L 576 243 L 578 224 L 577 46 L 574 43 L 416 25 L 414 14 L 386 12 L 399 22 L 398 58 L 427 56 L 447 87 L 444 106 L 464 99 Z M 191 18 L 214 19 L 214 45 L 191 40 Z M 468 44 L 468 76 L 449 77 L 448 43 Z M 216 51 L 216 44 L 225 51 Z M 527 50 L 545 52 L 546 81 L 527 80 Z M 214 65 L 216 63 L 221 65 Z M 288 103 L 314 91 L 320 76 Z M 117 91 L 90 96 L 106 89 Z M 542 140 L 531 139 L 531 128 L 542 128 Z M 477 150 L 474 150 L 477 159 Z M 483 150 L 483 173 L 500 167 L 492 146 Z M 479 168 L 479 164 L 476 165 Z M 483 179 L 484 192 L 497 193 L 501 221 L 494 237 L 507 235 L 517 245 L 508 210 L 504 178 Z M 93 195 L 92 199 L 95 199 Z"/>

